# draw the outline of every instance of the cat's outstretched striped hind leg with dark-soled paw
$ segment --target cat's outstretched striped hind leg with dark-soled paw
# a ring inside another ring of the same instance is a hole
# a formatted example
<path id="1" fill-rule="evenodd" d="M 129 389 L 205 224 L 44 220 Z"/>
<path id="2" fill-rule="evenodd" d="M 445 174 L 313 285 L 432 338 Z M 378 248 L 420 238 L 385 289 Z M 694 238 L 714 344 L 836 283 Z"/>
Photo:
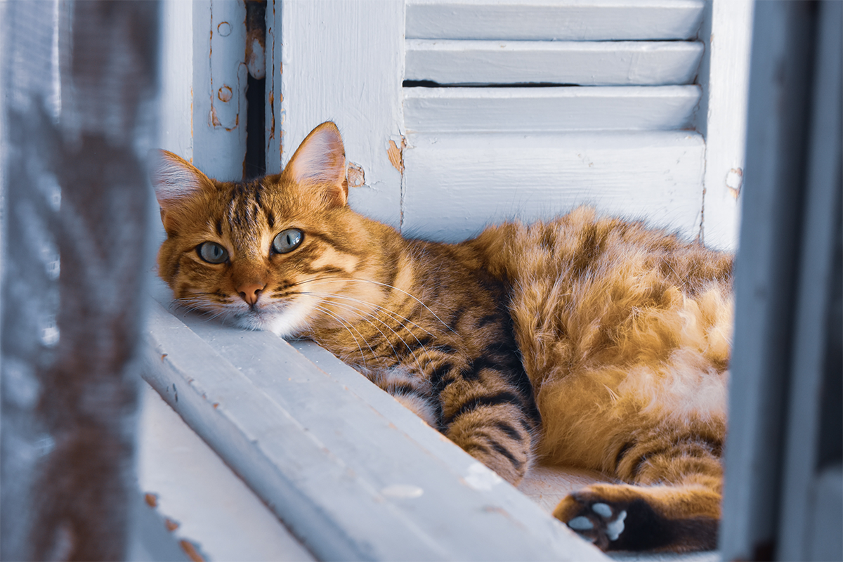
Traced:
<path id="1" fill-rule="evenodd" d="M 666 445 L 651 436 L 617 457 L 618 476 L 634 484 L 593 484 L 561 500 L 554 516 L 604 550 L 717 548 L 718 445 L 693 437 Z"/>

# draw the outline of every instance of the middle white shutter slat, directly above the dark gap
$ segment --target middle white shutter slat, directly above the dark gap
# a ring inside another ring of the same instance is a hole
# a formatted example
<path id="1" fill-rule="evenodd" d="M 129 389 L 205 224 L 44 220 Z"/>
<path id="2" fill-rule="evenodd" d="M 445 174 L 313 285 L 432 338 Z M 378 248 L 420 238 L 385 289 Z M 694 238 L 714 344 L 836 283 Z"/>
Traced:
<path id="1" fill-rule="evenodd" d="M 696 41 L 406 41 L 405 80 L 661 86 L 694 82 Z"/>

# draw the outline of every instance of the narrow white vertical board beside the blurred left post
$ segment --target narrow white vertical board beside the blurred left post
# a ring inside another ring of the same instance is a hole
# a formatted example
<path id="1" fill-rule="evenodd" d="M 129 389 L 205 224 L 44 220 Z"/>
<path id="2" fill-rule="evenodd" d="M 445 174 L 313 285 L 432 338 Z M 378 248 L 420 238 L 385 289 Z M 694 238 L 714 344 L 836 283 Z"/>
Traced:
<path id="1" fill-rule="evenodd" d="M 159 147 L 193 161 L 193 5 L 161 3 Z"/>

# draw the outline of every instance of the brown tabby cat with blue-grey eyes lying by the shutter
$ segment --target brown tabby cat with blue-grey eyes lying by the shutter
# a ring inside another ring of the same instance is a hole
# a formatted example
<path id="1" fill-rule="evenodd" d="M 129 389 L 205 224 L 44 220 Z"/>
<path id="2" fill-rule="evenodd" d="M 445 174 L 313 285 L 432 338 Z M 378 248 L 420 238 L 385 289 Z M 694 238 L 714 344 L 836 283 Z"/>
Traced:
<path id="1" fill-rule="evenodd" d="M 580 207 L 440 244 L 347 206 L 340 132 L 282 174 L 161 151 L 158 273 L 187 308 L 325 346 L 512 484 L 596 469 L 554 511 L 600 549 L 714 549 L 733 257 Z"/>

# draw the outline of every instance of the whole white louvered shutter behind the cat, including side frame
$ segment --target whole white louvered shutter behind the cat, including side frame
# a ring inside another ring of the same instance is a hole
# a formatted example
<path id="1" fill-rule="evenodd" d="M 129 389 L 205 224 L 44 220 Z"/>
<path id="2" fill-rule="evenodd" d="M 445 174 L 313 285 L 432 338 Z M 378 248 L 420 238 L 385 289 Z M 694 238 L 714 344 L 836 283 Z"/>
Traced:
<path id="1" fill-rule="evenodd" d="M 270 0 L 267 169 L 335 120 L 352 206 L 411 236 L 454 241 L 592 204 L 733 247 L 751 10 Z"/>

